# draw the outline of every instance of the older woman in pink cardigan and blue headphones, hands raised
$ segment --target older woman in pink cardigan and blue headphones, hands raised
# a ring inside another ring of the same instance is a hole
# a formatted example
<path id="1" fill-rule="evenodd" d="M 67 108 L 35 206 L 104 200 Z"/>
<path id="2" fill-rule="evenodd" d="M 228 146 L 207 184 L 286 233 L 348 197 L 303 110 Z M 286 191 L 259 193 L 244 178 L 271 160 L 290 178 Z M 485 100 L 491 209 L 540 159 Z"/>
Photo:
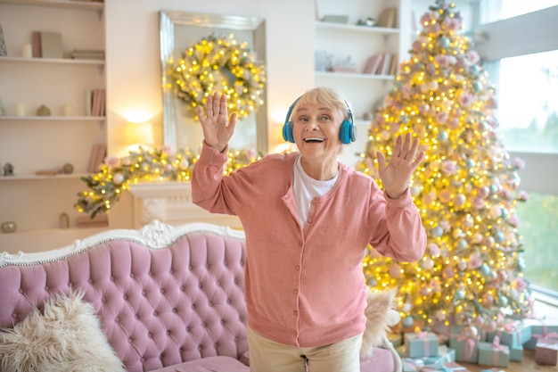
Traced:
<path id="1" fill-rule="evenodd" d="M 226 95 L 198 108 L 204 140 L 193 169 L 193 203 L 239 217 L 246 235 L 250 370 L 357 372 L 365 330 L 362 260 L 368 244 L 398 261 L 426 245 L 409 181 L 423 161 L 418 138 L 398 136 L 378 153 L 383 190 L 338 161 L 355 140 L 349 103 L 329 87 L 292 103 L 283 137 L 298 152 L 268 154 L 223 175 L 234 133 Z"/>

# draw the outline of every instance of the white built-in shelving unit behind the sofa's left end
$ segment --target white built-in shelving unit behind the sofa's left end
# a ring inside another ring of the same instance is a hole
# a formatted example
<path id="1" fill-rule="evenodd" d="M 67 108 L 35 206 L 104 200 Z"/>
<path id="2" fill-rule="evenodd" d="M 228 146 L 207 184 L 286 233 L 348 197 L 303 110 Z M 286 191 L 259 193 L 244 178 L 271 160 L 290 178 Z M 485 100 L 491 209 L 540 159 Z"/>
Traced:
<path id="1" fill-rule="evenodd" d="M 0 25 L 7 55 L 0 56 L 0 225 L 17 224 L 16 232 L 0 231 L 0 252 L 55 247 L 88 236 L 94 229 L 76 228 L 80 179 L 94 144 L 106 144 L 104 117 L 87 116 L 86 91 L 106 87 L 104 61 L 72 59 L 74 49 L 104 50 L 104 4 L 71 0 L 0 0 Z M 62 35 L 62 58 L 25 58 L 22 46 L 33 31 Z M 24 107 L 16 112 L 16 103 Z M 45 105 L 49 116 L 37 116 Z M 71 112 L 67 111 L 70 106 Z M 4 175 L 10 163 L 13 176 Z M 37 175 L 62 169 L 71 174 Z M 60 228 L 60 215 L 70 228 Z"/>

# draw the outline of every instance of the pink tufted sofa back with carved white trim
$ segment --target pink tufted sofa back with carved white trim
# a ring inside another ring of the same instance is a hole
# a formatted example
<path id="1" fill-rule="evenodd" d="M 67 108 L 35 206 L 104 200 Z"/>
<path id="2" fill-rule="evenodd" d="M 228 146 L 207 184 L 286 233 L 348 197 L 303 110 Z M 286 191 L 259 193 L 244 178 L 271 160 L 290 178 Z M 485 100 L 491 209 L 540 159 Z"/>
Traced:
<path id="1" fill-rule="evenodd" d="M 110 230 L 51 252 L 0 256 L 0 327 L 83 291 L 128 371 L 248 350 L 242 233 L 207 224 Z"/>

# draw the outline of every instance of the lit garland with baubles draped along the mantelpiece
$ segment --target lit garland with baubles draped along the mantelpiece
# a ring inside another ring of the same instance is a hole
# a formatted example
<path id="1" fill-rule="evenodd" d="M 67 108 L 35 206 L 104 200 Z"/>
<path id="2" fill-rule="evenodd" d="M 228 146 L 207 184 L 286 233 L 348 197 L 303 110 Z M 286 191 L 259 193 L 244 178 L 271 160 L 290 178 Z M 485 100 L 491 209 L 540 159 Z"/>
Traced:
<path id="1" fill-rule="evenodd" d="M 260 157 L 250 150 L 229 151 L 223 174 L 230 174 Z M 129 152 L 123 158 L 109 156 L 97 174 L 81 178 L 89 190 L 78 194 L 78 203 L 74 207 L 79 212 L 88 213 L 93 219 L 97 213 L 110 211 L 130 184 L 141 181 L 190 181 L 193 164 L 198 158 L 199 154 L 190 150 L 171 154 L 168 148 L 148 150 L 143 147 L 137 152 Z"/>

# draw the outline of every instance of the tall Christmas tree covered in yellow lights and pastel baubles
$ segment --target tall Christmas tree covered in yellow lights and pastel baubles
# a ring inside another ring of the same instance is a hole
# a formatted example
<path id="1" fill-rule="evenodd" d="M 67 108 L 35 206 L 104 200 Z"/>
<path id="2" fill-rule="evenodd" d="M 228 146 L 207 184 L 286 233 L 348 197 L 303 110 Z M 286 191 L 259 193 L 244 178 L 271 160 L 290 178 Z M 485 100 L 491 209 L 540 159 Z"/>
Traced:
<path id="1" fill-rule="evenodd" d="M 518 189 L 523 164 L 505 151 L 493 116 L 496 91 L 461 33 L 455 4 L 438 0 L 421 24 L 375 112 L 357 168 L 382 185 L 376 152 L 389 156 L 402 133 L 421 139 L 426 157 L 411 194 L 428 245 L 415 263 L 383 258 L 371 247 L 365 277 L 371 289 L 398 287 L 404 327 L 474 321 L 493 330 L 498 319 L 530 311 L 516 214 L 516 203 L 528 198 Z"/>

